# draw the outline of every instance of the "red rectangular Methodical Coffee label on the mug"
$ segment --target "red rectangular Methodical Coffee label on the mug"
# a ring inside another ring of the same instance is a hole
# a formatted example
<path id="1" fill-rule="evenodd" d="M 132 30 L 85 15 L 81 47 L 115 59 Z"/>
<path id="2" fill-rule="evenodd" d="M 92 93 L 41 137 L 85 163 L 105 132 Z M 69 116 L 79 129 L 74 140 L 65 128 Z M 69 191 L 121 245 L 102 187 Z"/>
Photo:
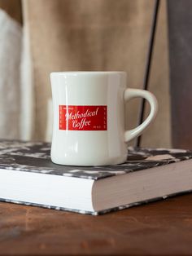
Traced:
<path id="1" fill-rule="evenodd" d="M 59 105 L 59 130 L 107 130 L 107 106 Z"/>

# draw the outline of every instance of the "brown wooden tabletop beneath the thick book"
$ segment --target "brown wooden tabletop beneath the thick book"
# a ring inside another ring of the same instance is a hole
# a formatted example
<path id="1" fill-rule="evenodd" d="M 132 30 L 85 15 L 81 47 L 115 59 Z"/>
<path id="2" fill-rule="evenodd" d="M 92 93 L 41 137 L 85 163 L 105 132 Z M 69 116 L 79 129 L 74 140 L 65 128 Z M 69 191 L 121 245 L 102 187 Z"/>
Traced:
<path id="1" fill-rule="evenodd" d="M 97 217 L 2 202 L 0 254 L 191 255 L 192 194 Z"/>

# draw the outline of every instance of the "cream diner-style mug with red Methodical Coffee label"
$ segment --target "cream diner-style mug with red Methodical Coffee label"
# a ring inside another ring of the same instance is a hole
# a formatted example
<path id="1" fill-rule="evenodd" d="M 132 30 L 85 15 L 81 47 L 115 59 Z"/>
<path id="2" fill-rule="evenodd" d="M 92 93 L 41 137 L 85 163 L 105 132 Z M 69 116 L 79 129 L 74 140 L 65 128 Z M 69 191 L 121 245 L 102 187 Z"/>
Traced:
<path id="1" fill-rule="evenodd" d="M 154 120 L 157 101 L 151 92 L 127 88 L 125 72 L 50 73 L 54 124 L 51 160 L 68 166 L 123 163 L 127 143 Z M 140 126 L 124 129 L 129 99 L 146 99 L 151 112 Z"/>

